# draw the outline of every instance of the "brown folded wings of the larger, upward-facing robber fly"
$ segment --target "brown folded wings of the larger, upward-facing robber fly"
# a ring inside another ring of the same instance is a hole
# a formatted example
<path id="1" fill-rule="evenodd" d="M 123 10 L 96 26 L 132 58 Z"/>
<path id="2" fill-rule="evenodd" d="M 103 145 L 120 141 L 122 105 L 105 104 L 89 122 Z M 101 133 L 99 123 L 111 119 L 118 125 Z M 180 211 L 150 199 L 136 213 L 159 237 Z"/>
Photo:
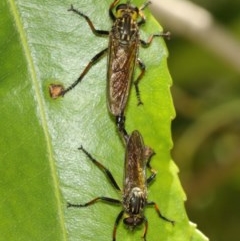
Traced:
<path id="1" fill-rule="evenodd" d="M 138 52 L 138 41 L 121 45 L 110 35 L 108 56 L 108 106 L 114 116 L 120 115 L 126 106 Z"/>

